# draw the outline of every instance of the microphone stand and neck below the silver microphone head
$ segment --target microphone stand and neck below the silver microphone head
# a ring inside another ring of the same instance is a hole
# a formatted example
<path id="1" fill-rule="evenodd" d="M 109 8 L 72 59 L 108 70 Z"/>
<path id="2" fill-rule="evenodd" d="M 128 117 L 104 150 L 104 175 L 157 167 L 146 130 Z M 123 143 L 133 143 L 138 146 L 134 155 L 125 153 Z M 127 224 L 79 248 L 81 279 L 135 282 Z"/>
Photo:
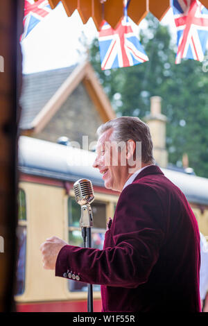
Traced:
<path id="1" fill-rule="evenodd" d="M 84 248 L 92 248 L 91 228 L 93 226 L 92 209 L 87 203 L 81 206 L 80 227 L 82 228 L 82 236 Z M 93 292 L 92 284 L 87 284 L 87 311 L 93 312 Z"/>

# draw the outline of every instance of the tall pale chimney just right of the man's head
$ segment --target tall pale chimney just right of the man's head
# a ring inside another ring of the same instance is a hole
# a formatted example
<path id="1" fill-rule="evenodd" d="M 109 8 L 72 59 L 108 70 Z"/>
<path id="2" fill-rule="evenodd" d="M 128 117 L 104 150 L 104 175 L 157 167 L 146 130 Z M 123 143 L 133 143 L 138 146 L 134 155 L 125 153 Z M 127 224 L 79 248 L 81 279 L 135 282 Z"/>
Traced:
<path id="1" fill-rule="evenodd" d="M 162 98 L 159 96 L 150 97 L 150 114 L 145 117 L 150 128 L 153 139 L 153 155 L 156 164 L 166 167 L 168 164 L 168 153 L 166 151 L 166 121 L 167 118 L 161 113 Z"/>

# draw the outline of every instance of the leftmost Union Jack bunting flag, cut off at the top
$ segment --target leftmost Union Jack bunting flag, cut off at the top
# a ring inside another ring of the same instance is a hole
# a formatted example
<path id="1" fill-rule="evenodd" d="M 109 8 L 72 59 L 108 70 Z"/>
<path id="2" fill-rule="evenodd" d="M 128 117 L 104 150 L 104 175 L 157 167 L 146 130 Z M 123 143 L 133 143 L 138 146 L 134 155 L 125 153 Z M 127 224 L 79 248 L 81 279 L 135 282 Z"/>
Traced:
<path id="1" fill-rule="evenodd" d="M 48 0 L 25 0 L 24 1 L 24 33 L 20 37 L 20 41 L 32 31 L 32 29 L 51 12 Z"/>

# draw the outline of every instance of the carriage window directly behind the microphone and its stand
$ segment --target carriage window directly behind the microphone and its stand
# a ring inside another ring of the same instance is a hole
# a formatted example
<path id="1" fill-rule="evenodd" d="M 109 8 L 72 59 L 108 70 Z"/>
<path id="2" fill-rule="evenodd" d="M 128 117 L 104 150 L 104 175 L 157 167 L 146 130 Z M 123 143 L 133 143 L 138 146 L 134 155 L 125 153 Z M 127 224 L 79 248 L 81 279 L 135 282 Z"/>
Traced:
<path id="1" fill-rule="evenodd" d="M 92 248 L 103 249 L 106 231 L 106 205 L 107 203 L 94 200 L 91 204 L 94 227 L 92 228 Z M 69 243 L 73 246 L 83 247 L 83 237 L 80 230 L 80 205 L 74 198 L 68 199 Z M 94 291 L 100 291 L 99 285 L 93 286 Z M 87 284 L 69 280 L 69 291 L 87 291 Z"/>

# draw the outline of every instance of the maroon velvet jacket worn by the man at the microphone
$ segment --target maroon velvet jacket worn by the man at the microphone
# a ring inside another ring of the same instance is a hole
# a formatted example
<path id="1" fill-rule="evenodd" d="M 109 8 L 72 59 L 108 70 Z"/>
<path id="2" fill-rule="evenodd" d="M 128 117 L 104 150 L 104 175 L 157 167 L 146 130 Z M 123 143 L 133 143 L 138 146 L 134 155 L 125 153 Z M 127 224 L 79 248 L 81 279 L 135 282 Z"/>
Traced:
<path id="1" fill-rule="evenodd" d="M 200 234 L 182 191 L 148 166 L 121 192 L 103 250 L 60 250 L 55 275 L 67 271 L 101 284 L 103 311 L 200 311 Z"/>

